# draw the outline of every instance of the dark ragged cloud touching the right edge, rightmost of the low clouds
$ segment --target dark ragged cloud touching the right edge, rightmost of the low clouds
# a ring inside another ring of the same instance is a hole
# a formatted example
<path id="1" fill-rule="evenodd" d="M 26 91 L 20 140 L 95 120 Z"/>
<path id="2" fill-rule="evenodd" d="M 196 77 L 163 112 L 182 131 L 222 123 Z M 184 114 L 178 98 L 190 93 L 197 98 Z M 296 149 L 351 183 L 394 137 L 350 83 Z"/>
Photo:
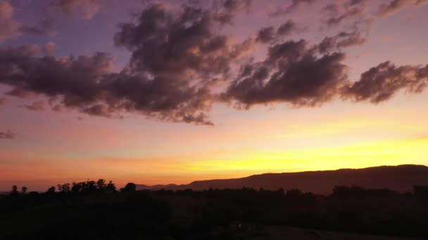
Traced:
<path id="1" fill-rule="evenodd" d="M 383 62 L 361 74 L 360 80 L 344 88 L 344 98 L 372 103 L 389 100 L 398 91 L 420 93 L 428 84 L 428 65 L 397 67 Z"/>

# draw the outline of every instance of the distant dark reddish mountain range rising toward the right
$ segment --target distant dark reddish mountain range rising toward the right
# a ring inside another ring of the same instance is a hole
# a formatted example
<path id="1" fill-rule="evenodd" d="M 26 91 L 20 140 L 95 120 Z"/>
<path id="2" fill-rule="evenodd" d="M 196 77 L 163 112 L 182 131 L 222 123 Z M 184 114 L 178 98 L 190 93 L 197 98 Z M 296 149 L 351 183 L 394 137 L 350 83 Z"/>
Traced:
<path id="1" fill-rule="evenodd" d="M 299 173 L 265 173 L 246 178 L 194 181 L 188 185 L 137 185 L 137 189 L 301 189 L 303 192 L 329 194 L 335 186 L 358 185 L 365 188 L 389 188 L 398 192 L 411 191 L 413 185 L 428 185 L 428 167 L 423 165 L 377 166 L 334 171 Z"/>

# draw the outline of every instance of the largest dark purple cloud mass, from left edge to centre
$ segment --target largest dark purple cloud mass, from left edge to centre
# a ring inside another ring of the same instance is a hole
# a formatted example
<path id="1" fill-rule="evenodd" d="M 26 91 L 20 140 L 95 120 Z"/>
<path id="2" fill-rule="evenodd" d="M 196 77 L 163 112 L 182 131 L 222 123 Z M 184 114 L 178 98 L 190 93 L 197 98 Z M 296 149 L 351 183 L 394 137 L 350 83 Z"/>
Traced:
<path id="1" fill-rule="evenodd" d="M 163 4 L 145 8 L 137 22 L 121 24 L 115 35 L 117 46 L 132 51 L 121 72 L 106 53 L 57 59 L 39 56 L 34 46 L 1 49 L 0 82 L 13 86 L 11 95 L 43 94 L 91 115 L 139 112 L 164 121 L 212 124 L 206 114 L 215 100 L 212 88 L 252 45 L 216 34 L 222 26 L 217 13 L 189 6 L 170 11 Z"/>

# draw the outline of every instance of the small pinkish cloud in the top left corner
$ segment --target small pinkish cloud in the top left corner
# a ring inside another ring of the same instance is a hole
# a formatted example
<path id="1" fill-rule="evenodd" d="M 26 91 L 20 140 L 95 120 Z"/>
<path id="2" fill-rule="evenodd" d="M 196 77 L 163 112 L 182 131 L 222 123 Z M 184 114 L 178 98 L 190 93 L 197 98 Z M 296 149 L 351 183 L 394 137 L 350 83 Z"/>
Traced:
<path id="1" fill-rule="evenodd" d="M 20 25 L 13 21 L 13 6 L 8 1 L 0 0 L 0 42 L 5 39 L 20 36 Z"/>

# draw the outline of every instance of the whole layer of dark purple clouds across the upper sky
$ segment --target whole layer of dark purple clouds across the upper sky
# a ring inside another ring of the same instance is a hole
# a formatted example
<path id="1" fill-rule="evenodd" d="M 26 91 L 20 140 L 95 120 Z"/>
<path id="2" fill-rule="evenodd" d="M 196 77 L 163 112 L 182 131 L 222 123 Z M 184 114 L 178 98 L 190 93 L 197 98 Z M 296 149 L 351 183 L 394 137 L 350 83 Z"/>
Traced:
<path id="1" fill-rule="evenodd" d="M 379 6 L 377 14 L 424 2 L 394 0 Z M 52 4 L 56 11 L 82 14 L 84 19 L 99 11 L 98 1 Z M 250 4 L 227 0 L 216 8 L 147 5 L 134 21 L 121 23 L 114 36 L 115 46 L 131 54 L 120 70 L 108 53 L 55 58 L 53 42 L 42 49 L 0 48 L 0 83 L 13 87 L 9 95 L 46 96 L 47 101 L 22 106 L 34 111 L 77 109 L 115 118 L 137 113 L 205 125 L 213 124 L 208 114 L 220 102 L 239 109 L 271 103 L 313 107 L 336 99 L 377 104 L 398 91 L 421 93 L 427 86 L 427 65 L 396 66 L 390 61 L 368 69 L 359 79 L 348 78 L 344 49 L 365 44 L 370 35 L 373 18 L 367 17 L 367 1 L 326 5 L 323 24 L 337 27 L 346 22 L 347 27 L 317 43 L 293 40 L 293 34 L 304 29 L 294 20 L 256 29 L 242 41 L 224 34 L 222 29 L 233 27 L 236 15 Z M 283 10 L 291 13 L 309 4 L 313 1 L 291 1 Z M 7 2 L 0 7 L 10 13 L 0 20 L 0 25 L 9 26 L 0 37 L 10 37 L 13 8 Z M 254 60 L 253 50 L 262 47 L 264 57 Z"/>

